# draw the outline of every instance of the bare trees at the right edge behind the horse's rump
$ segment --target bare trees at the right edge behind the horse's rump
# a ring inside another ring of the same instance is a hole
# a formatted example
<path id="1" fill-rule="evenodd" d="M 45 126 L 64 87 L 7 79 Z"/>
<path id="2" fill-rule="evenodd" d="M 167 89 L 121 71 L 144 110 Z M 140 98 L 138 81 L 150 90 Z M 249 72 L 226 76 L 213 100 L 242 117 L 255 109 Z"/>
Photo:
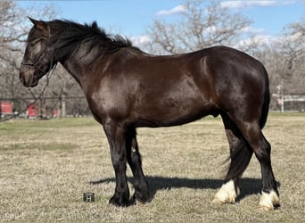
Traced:
<path id="1" fill-rule="evenodd" d="M 256 56 L 268 70 L 270 92 L 273 95 L 305 94 L 305 17 L 283 29 L 277 40 L 264 45 Z M 272 109 L 279 109 L 278 95 L 271 101 Z M 296 108 L 294 108 L 296 109 Z"/>

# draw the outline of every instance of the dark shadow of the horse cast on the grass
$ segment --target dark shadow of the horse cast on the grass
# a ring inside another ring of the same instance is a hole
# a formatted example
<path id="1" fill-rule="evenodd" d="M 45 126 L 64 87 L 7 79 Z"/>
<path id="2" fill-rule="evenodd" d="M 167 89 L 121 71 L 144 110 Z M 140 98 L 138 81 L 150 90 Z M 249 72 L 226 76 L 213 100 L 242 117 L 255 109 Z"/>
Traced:
<path id="1" fill-rule="evenodd" d="M 147 176 L 146 180 L 152 199 L 159 190 L 170 190 L 172 188 L 191 188 L 191 189 L 218 189 L 224 183 L 221 179 L 194 179 L 194 178 L 166 178 L 160 176 Z M 91 185 L 99 185 L 104 183 L 115 182 L 115 178 L 102 178 L 97 181 L 91 181 Z M 135 183 L 134 178 L 128 178 L 128 182 Z M 260 178 L 241 178 L 239 181 L 240 194 L 237 197 L 239 202 L 246 196 L 259 194 L 261 190 Z"/>

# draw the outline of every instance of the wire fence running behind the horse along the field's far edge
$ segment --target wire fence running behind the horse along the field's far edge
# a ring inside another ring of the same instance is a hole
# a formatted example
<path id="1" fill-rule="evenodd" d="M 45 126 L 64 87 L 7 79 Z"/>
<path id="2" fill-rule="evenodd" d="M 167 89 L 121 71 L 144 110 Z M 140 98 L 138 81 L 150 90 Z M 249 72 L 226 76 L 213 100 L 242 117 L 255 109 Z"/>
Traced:
<path id="1" fill-rule="evenodd" d="M 0 121 L 91 116 L 84 96 L 0 98 Z M 271 111 L 305 111 L 305 95 L 272 95 Z"/>

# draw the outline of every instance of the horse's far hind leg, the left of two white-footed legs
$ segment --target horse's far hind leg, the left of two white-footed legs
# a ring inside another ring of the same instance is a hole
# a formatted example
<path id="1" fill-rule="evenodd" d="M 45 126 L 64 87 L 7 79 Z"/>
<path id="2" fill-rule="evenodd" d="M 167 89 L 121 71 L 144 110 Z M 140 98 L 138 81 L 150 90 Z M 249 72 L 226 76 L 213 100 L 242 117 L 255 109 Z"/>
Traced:
<path id="1" fill-rule="evenodd" d="M 227 169 L 227 177 L 225 178 L 224 185 L 215 194 L 213 200 L 215 204 L 235 202 L 239 194 L 239 178 L 242 176 L 244 169 L 247 168 L 253 153 L 238 128 L 236 128 L 235 123 L 224 114 L 222 115 L 222 119 L 230 147 L 230 165 Z"/>

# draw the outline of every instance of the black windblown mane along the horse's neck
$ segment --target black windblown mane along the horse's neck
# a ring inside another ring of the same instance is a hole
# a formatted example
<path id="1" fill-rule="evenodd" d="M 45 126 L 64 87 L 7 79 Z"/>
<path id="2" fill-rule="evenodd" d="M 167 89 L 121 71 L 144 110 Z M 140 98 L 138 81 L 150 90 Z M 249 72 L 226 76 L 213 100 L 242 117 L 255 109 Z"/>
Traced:
<path id="1" fill-rule="evenodd" d="M 112 54 L 123 47 L 133 47 L 123 36 L 108 35 L 94 21 L 91 25 L 74 21 L 48 21 L 51 30 L 50 44 L 56 49 L 56 56 L 64 58 L 76 52 L 82 43 L 87 43 L 87 54 L 98 46 L 101 54 Z M 136 47 L 135 47 L 136 48 Z"/>

